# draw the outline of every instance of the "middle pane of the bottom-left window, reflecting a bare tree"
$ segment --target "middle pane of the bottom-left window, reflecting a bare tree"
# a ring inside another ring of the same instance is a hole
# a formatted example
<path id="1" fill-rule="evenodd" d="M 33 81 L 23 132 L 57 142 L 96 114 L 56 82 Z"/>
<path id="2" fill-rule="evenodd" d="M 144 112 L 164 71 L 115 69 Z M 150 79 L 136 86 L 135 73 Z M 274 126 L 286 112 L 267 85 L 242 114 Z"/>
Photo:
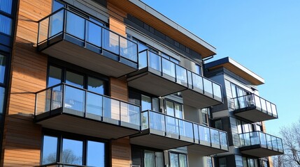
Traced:
<path id="1" fill-rule="evenodd" d="M 83 165 L 83 141 L 63 139 L 62 163 Z"/>

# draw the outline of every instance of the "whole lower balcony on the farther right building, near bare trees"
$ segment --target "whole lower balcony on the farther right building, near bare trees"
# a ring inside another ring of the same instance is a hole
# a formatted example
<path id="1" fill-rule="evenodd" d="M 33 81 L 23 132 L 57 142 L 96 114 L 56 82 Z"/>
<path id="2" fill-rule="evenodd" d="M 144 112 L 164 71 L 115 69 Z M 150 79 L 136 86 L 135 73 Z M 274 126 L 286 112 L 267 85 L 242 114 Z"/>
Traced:
<path id="1" fill-rule="evenodd" d="M 281 138 L 263 132 L 248 132 L 239 134 L 242 154 L 254 157 L 269 157 L 283 154 L 283 141 Z"/>

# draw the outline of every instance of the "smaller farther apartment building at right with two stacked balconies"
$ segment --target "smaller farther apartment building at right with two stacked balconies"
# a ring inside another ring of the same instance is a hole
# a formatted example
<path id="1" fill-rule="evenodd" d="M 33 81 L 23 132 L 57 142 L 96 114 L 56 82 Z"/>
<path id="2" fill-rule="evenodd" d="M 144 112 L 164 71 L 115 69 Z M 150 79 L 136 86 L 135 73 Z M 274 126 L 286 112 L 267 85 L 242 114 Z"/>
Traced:
<path id="1" fill-rule="evenodd" d="M 276 104 L 259 96 L 264 79 L 229 57 L 206 63 L 205 72 L 222 85 L 224 103 L 210 111 L 213 126 L 229 139 L 229 152 L 218 154 L 217 166 L 273 166 L 270 156 L 283 154 L 283 141 L 266 133 L 264 121 L 278 114 Z"/>

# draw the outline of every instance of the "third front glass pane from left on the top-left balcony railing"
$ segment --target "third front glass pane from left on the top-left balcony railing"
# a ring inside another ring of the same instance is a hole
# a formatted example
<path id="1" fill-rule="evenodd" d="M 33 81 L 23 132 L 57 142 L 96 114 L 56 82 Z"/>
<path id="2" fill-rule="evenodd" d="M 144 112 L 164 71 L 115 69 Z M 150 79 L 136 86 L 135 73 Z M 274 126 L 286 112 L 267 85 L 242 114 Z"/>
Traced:
<path id="1" fill-rule="evenodd" d="M 119 35 L 103 29 L 103 49 L 119 54 Z"/>

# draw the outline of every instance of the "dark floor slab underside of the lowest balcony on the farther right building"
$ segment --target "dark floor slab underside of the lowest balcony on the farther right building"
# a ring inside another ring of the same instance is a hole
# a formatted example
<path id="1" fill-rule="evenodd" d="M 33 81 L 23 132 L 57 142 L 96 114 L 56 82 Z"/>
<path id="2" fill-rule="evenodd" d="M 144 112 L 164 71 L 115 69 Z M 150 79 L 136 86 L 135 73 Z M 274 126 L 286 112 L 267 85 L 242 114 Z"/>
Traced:
<path id="1" fill-rule="evenodd" d="M 283 152 L 279 152 L 277 150 L 270 150 L 267 148 L 262 148 L 260 145 L 250 145 L 243 148 L 240 148 L 242 154 L 247 154 L 253 157 L 270 157 L 273 155 L 283 154 Z"/>

